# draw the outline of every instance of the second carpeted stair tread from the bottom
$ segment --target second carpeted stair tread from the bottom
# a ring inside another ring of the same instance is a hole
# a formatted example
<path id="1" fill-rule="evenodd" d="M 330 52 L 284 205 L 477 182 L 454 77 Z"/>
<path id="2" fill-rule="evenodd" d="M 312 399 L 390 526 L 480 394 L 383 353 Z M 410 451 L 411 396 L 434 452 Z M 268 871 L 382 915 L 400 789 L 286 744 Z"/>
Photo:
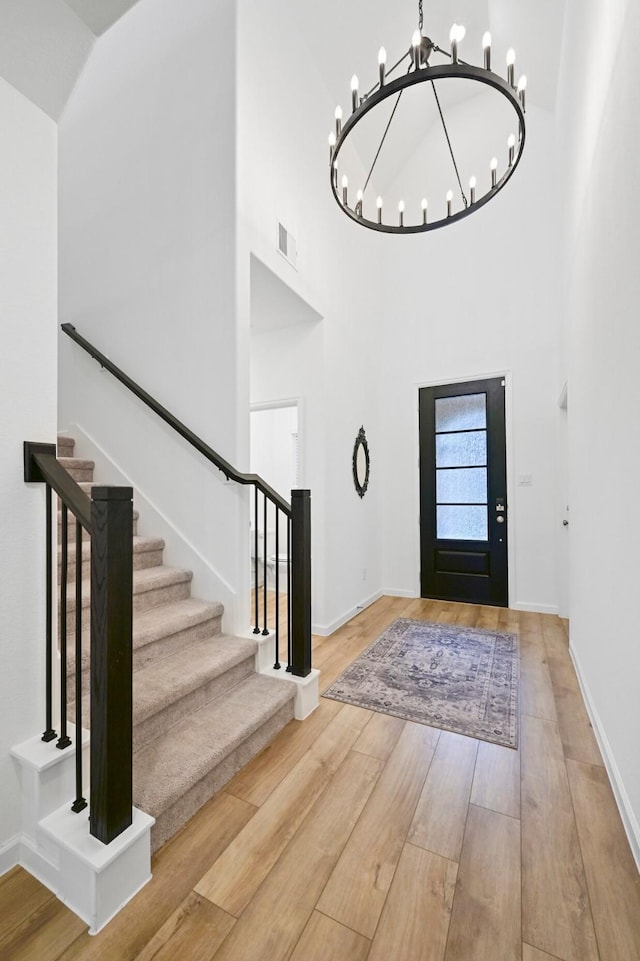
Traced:
<path id="1" fill-rule="evenodd" d="M 169 704 L 220 678 L 243 661 L 253 671 L 255 641 L 220 634 L 195 641 L 152 661 L 133 675 L 133 723 L 140 724 Z"/>

